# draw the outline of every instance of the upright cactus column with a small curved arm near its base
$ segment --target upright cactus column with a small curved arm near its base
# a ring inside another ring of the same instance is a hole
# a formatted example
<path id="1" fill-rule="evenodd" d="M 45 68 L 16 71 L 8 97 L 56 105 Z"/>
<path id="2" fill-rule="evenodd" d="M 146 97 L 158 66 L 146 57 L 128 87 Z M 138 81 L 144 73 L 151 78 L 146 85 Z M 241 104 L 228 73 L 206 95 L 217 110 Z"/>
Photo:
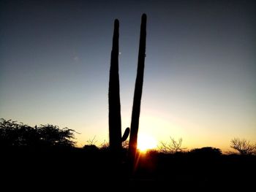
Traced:
<path id="1" fill-rule="evenodd" d="M 124 131 L 121 137 L 121 105 L 119 93 L 119 74 L 118 74 L 118 39 L 119 39 L 119 21 L 116 19 L 113 32 L 113 46 L 110 61 L 110 80 L 108 88 L 108 104 L 109 104 L 109 141 L 110 150 L 118 153 L 121 150 L 121 142 L 124 142 L 129 136 L 129 128 Z"/>

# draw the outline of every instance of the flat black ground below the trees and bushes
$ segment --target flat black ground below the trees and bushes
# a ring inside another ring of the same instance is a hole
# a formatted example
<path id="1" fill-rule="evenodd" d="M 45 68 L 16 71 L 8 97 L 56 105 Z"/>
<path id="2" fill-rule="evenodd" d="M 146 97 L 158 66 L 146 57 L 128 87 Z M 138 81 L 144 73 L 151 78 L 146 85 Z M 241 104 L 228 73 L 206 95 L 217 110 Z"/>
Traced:
<path id="1" fill-rule="evenodd" d="M 255 155 L 151 152 L 131 176 L 108 150 L 1 150 L 1 188 L 7 191 L 233 191 L 255 188 Z M 90 188 L 90 189 L 89 189 Z"/>

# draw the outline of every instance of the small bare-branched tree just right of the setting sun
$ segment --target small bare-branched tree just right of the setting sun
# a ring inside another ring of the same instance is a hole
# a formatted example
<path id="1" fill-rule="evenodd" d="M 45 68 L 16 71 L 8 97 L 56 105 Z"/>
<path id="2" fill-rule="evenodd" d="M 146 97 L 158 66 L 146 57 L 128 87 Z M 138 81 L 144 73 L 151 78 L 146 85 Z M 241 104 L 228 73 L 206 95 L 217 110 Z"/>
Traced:
<path id="1" fill-rule="evenodd" d="M 181 147 L 181 145 L 182 145 L 182 138 L 176 141 L 174 138 L 170 137 L 170 142 L 161 142 L 158 148 L 159 148 L 159 151 L 162 153 L 177 153 L 187 149 L 187 148 Z"/>

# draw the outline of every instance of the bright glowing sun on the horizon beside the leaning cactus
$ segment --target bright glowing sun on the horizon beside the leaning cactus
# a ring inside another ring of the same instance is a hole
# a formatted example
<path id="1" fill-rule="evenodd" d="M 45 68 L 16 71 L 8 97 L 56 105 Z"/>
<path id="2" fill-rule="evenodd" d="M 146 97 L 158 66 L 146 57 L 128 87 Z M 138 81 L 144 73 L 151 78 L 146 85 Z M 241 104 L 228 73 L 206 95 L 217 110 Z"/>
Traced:
<path id="1" fill-rule="evenodd" d="M 137 148 L 141 152 L 146 152 L 146 150 L 154 149 L 157 147 L 157 140 L 146 134 L 138 135 L 138 145 Z"/>

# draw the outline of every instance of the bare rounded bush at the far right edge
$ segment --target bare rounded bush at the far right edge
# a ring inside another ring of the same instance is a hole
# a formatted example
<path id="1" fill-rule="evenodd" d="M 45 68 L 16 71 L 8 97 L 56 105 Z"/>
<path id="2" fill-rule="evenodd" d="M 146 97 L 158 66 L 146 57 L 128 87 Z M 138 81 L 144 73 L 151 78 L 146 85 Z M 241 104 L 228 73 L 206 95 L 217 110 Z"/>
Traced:
<path id="1" fill-rule="evenodd" d="M 253 145 L 246 139 L 234 138 L 231 140 L 230 147 L 237 150 L 241 155 L 256 154 L 256 144 Z"/>

